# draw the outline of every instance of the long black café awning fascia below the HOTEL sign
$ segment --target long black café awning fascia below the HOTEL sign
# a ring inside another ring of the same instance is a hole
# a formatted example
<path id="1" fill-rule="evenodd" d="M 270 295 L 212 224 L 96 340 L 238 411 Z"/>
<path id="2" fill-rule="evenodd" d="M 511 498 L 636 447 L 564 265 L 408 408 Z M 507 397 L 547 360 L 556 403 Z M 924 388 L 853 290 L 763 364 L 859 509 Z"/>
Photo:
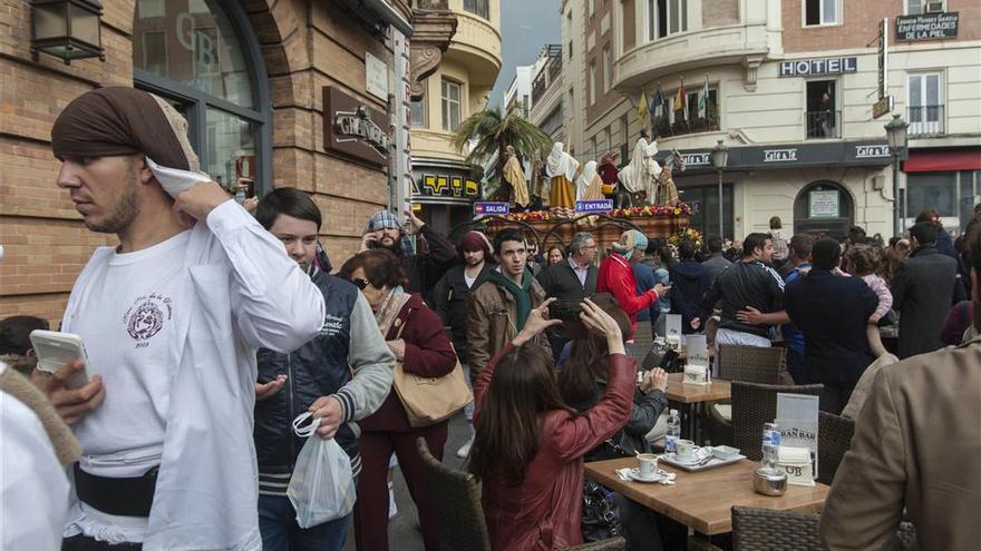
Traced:
<path id="1" fill-rule="evenodd" d="M 679 150 L 687 173 L 713 171 L 711 149 Z M 662 165 L 671 151 L 658 154 Z M 892 161 L 885 141 L 836 141 L 730 147 L 726 170 L 764 170 L 767 168 L 805 168 L 838 166 L 887 166 Z"/>

